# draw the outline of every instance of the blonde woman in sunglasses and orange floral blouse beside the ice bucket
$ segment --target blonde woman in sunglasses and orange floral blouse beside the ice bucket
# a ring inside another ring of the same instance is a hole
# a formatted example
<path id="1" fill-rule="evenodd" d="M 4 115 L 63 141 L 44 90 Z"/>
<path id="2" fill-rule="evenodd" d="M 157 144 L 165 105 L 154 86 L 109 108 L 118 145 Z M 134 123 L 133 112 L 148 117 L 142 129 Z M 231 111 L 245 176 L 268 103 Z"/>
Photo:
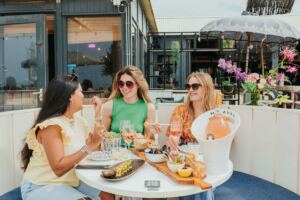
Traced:
<path id="1" fill-rule="evenodd" d="M 195 142 L 196 139 L 191 133 L 191 126 L 199 115 L 215 108 L 214 84 L 209 74 L 203 72 L 193 72 L 186 80 L 188 98 L 185 103 L 178 105 L 171 116 L 170 124 L 179 121 L 182 128 L 179 133 L 172 131 L 168 127 L 167 144 L 171 149 L 177 149 L 182 143 Z M 180 136 L 173 137 L 174 135 Z"/>

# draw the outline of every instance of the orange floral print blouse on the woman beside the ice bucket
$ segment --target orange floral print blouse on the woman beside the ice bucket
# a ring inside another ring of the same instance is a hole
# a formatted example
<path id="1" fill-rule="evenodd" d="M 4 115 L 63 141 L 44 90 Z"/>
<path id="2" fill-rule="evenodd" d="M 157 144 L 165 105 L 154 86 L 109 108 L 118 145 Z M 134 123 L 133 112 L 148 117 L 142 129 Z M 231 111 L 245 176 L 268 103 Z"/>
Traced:
<path id="1" fill-rule="evenodd" d="M 193 123 L 193 118 L 189 115 L 189 110 L 185 104 L 179 104 L 173 111 L 170 124 L 172 121 L 182 121 L 182 131 L 180 134 L 180 143 L 195 142 L 196 139 L 192 135 L 191 127 Z M 172 135 L 170 126 L 167 129 L 167 136 Z"/>

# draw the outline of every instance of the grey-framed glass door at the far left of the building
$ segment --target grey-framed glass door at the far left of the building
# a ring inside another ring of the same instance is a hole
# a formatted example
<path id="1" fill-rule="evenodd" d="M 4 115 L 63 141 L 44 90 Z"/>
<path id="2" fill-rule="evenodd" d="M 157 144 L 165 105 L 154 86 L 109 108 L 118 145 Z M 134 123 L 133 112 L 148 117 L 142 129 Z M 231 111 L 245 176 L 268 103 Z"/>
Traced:
<path id="1" fill-rule="evenodd" d="M 0 112 L 38 107 L 47 83 L 45 15 L 0 17 Z"/>

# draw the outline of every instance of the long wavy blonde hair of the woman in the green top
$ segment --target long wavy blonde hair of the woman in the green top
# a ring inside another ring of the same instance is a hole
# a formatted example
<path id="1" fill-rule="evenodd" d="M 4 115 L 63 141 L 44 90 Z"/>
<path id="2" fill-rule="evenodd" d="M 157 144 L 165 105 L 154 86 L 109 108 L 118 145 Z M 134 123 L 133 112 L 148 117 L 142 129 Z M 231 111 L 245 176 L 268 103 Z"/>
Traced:
<path id="1" fill-rule="evenodd" d="M 131 76 L 133 80 L 136 82 L 138 86 L 138 91 L 137 91 L 138 98 L 143 99 L 147 103 L 152 103 L 152 100 L 148 95 L 149 86 L 147 81 L 144 78 L 143 73 L 139 68 L 132 65 L 126 66 L 117 72 L 113 80 L 112 92 L 111 95 L 108 97 L 108 100 L 112 100 L 117 97 L 122 97 L 122 93 L 120 92 L 120 89 L 118 87 L 118 81 L 120 80 L 123 74 L 127 74 Z"/>

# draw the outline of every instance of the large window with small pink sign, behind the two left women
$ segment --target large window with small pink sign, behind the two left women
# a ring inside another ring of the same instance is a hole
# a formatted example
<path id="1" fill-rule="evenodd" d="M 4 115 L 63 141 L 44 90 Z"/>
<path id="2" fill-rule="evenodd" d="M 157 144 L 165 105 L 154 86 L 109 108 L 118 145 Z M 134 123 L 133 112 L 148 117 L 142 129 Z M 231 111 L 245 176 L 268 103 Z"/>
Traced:
<path id="1" fill-rule="evenodd" d="M 84 91 L 109 95 L 121 67 L 120 17 L 68 18 L 67 67 L 79 75 Z"/>

